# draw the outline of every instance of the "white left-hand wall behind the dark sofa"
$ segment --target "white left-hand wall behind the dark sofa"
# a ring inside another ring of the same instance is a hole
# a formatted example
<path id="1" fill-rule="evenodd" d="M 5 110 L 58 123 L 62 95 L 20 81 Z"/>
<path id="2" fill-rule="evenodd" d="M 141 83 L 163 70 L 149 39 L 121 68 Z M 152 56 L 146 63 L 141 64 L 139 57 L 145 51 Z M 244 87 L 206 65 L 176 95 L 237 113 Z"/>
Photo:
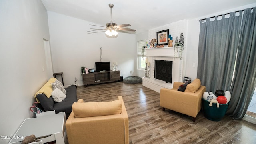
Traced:
<path id="1" fill-rule="evenodd" d="M 43 39 L 50 36 L 40 0 L 1 0 L 0 20 L 0 136 L 12 136 L 33 116 L 34 94 L 47 80 Z"/>

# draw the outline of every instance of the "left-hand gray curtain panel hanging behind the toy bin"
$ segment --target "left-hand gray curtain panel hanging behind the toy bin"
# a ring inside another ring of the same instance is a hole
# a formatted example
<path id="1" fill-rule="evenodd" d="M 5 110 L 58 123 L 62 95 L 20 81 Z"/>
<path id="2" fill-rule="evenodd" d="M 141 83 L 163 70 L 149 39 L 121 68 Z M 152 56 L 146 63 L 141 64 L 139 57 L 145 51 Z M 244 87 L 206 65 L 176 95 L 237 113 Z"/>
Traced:
<path id="1" fill-rule="evenodd" d="M 207 92 L 230 90 L 236 52 L 239 42 L 242 10 L 239 16 L 230 13 L 229 18 L 200 21 L 197 78 Z"/>

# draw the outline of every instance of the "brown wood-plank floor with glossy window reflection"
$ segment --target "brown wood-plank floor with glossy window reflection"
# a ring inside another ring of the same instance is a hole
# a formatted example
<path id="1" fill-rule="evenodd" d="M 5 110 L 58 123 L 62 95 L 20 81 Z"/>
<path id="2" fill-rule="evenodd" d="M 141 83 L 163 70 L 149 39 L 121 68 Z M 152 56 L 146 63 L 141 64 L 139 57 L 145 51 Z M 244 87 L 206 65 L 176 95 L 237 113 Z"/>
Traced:
<path id="1" fill-rule="evenodd" d="M 84 102 L 106 102 L 122 96 L 129 117 L 129 144 L 256 144 L 256 125 L 224 116 L 208 120 L 202 111 L 190 116 L 160 107 L 160 94 L 140 84 L 112 82 L 78 86 Z"/>

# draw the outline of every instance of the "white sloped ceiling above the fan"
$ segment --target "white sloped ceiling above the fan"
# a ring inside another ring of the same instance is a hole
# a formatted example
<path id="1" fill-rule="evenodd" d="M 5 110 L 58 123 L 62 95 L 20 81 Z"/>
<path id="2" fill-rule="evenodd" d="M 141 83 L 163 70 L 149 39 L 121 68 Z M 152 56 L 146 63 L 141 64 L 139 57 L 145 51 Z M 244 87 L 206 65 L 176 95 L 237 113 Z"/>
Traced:
<path id="1" fill-rule="evenodd" d="M 178 20 L 198 18 L 256 0 L 41 0 L 48 11 L 106 26 L 112 21 L 144 32 Z M 92 28 L 96 28 L 93 27 Z M 98 28 L 98 27 L 97 27 Z M 100 27 L 99 27 L 100 28 Z M 88 29 L 90 30 L 90 29 Z"/>

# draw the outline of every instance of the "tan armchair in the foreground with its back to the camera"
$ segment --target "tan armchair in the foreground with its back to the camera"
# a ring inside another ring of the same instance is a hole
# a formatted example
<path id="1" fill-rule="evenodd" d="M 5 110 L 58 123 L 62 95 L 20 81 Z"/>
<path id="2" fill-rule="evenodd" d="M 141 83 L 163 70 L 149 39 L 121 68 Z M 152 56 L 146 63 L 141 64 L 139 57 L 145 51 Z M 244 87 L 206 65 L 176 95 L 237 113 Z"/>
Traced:
<path id="1" fill-rule="evenodd" d="M 128 144 L 128 114 L 122 96 L 112 102 L 85 102 L 72 105 L 66 121 L 69 144 Z"/>

